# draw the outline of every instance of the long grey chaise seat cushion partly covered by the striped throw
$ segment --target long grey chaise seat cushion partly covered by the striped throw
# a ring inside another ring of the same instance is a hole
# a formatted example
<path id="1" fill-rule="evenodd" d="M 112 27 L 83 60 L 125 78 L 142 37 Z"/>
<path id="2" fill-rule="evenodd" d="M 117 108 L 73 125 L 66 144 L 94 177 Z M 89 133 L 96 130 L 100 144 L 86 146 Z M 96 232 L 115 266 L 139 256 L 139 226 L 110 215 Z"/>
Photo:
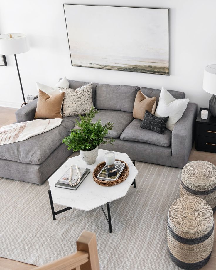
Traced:
<path id="1" fill-rule="evenodd" d="M 76 124 L 76 119 L 79 121 L 79 117 L 65 117 L 62 119 L 60 126 L 50 131 L 38 134 L 25 141 L 1 145 L 0 159 L 30 164 L 43 163 L 62 144 L 62 139 L 70 134 L 70 130 Z"/>

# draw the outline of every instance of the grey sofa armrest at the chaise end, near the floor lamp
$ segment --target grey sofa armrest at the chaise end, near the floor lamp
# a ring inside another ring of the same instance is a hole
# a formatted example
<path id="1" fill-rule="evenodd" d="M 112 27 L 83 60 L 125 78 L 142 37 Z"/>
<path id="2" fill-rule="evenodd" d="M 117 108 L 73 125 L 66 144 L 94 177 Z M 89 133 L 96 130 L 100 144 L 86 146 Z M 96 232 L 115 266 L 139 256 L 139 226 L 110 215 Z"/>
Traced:
<path id="1" fill-rule="evenodd" d="M 26 104 L 22 108 L 18 109 L 16 114 L 17 122 L 31 121 L 35 117 L 35 112 L 37 108 L 38 99 L 33 100 L 32 102 Z"/>

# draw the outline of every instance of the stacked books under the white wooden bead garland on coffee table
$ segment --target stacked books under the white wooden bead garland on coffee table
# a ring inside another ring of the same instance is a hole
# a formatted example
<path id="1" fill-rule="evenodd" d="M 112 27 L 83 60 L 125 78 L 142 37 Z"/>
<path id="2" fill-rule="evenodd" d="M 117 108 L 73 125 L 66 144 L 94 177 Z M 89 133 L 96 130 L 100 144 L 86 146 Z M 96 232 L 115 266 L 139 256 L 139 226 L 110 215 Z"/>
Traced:
<path id="1" fill-rule="evenodd" d="M 69 185 L 69 183 L 68 183 L 68 179 L 70 177 L 70 168 L 69 168 L 66 171 L 66 173 L 64 173 L 63 176 L 58 180 L 58 182 L 55 183 L 55 186 L 58 188 L 68 188 L 68 189 L 76 190 L 90 172 L 90 169 L 80 168 L 80 167 L 78 167 L 78 168 L 79 168 L 79 171 L 81 173 L 81 180 L 80 180 L 79 184 L 77 184 L 75 186 Z M 75 184 L 77 182 L 78 178 L 79 178 L 79 176 L 78 176 L 77 170 L 76 170 L 75 166 L 73 166 L 72 167 L 72 177 L 71 177 L 70 182 L 72 184 Z"/>

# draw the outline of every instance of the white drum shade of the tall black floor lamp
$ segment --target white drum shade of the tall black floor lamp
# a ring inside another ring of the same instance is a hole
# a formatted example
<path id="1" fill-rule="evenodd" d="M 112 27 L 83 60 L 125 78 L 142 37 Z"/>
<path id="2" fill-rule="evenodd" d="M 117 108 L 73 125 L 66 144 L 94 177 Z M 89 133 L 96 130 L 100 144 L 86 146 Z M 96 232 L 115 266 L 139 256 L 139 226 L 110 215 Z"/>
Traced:
<path id="1" fill-rule="evenodd" d="M 26 34 L 14 33 L 0 35 L 0 54 L 25 53 L 29 51 L 29 49 Z"/>

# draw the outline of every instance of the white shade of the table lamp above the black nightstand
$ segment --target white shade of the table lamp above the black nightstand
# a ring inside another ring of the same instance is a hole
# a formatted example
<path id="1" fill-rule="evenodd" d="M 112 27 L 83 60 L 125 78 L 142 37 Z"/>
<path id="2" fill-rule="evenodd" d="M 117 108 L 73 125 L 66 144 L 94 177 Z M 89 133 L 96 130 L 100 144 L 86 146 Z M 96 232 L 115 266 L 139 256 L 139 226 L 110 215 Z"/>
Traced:
<path id="1" fill-rule="evenodd" d="M 203 90 L 212 95 L 216 95 L 216 64 L 205 67 Z"/>

